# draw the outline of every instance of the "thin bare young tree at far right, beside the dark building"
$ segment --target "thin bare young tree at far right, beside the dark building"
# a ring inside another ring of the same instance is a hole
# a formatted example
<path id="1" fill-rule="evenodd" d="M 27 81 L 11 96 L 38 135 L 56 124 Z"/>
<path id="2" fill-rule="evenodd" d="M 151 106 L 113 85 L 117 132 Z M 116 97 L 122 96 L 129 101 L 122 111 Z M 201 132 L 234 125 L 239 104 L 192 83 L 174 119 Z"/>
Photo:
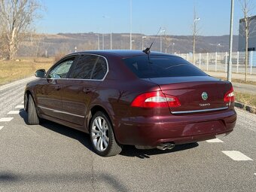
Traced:
<path id="1" fill-rule="evenodd" d="M 239 33 L 245 38 L 245 82 L 247 81 L 247 68 L 248 68 L 248 38 L 256 31 L 256 23 L 254 24 L 254 28 L 252 27 L 252 17 L 251 11 L 254 8 L 251 0 L 239 0 L 243 19 L 240 20 L 240 29 Z"/>

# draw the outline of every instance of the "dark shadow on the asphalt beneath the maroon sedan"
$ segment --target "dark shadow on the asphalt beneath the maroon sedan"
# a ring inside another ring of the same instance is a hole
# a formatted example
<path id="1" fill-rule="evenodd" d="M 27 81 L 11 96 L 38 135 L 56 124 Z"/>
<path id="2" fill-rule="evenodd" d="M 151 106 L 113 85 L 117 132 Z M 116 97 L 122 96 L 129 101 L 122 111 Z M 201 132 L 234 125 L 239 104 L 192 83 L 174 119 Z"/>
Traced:
<path id="1" fill-rule="evenodd" d="M 28 124 L 27 122 L 27 113 L 24 111 L 24 109 L 20 110 L 20 117 L 23 118 L 24 122 Z M 90 151 L 93 151 L 93 147 L 90 143 L 90 136 L 87 133 L 83 133 L 78 130 L 74 130 L 68 126 L 62 126 L 58 123 L 54 123 L 50 120 L 42 120 L 40 123 L 41 126 L 48 130 L 52 130 L 56 133 L 59 133 L 63 136 L 68 136 L 69 138 L 76 139 L 78 142 L 81 142 L 82 145 L 84 145 L 86 148 L 88 148 Z M 140 159 L 150 158 L 153 155 L 157 154 L 172 154 L 177 151 L 184 151 L 190 148 L 196 148 L 198 143 L 191 143 L 191 144 L 185 144 L 185 145 L 176 145 L 175 148 L 172 149 L 166 149 L 165 151 L 162 151 L 160 149 L 154 148 L 154 149 L 136 149 L 132 145 L 125 145 L 123 146 L 123 150 L 120 153 L 121 156 L 126 157 L 138 157 Z"/>

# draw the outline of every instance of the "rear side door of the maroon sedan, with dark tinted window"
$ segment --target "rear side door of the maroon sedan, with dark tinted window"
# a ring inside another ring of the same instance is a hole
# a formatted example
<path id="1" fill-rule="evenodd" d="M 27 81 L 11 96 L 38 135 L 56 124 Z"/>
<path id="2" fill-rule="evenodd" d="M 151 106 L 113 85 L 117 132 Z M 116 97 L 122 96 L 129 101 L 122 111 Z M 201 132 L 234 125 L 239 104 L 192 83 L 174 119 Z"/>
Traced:
<path id="1" fill-rule="evenodd" d="M 101 64 L 103 62 L 103 64 Z M 88 105 L 96 98 L 96 88 L 107 73 L 107 62 L 102 56 L 81 55 L 72 72 L 70 83 L 62 89 L 62 106 L 65 120 L 84 125 Z"/>

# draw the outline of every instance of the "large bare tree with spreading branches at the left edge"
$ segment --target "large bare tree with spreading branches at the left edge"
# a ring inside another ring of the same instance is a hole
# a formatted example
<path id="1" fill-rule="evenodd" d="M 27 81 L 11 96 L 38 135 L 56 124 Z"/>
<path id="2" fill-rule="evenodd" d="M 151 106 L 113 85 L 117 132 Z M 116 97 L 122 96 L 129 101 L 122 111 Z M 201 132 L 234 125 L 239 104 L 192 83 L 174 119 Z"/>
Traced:
<path id="1" fill-rule="evenodd" d="M 0 0 L 2 52 L 6 59 L 14 59 L 20 41 L 31 31 L 38 19 L 41 5 L 37 0 Z"/>

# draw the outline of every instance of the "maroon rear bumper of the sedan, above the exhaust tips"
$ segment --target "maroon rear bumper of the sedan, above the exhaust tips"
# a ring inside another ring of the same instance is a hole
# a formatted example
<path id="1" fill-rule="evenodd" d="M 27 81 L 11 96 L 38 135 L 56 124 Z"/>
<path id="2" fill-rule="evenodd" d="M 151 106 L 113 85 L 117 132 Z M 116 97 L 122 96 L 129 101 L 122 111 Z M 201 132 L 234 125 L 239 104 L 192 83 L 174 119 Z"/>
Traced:
<path id="1" fill-rule="evenodd" d="M 164 117 L 128 117 L 114 127 L 117 141 L 123 145 L 156 147 L 161 143 L 175 145 L 215 139 L 229 134 L 236 125 L 236 111 Z"/>

